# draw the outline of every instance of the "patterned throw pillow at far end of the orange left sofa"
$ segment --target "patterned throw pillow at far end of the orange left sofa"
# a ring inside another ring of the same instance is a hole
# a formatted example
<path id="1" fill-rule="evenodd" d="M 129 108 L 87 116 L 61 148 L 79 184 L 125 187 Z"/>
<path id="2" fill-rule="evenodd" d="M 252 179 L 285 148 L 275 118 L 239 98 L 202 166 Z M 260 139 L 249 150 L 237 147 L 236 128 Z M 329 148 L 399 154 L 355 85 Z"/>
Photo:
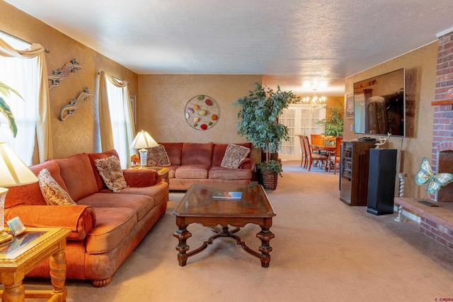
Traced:
<path id="1" fill-rule="evenodd" d="M 122 175 L 120 160 L 116 156 L 98 158 L 94 161 L 94 165 L 110 190 L 117 193 L 127 187 L 125 177 Z"/>

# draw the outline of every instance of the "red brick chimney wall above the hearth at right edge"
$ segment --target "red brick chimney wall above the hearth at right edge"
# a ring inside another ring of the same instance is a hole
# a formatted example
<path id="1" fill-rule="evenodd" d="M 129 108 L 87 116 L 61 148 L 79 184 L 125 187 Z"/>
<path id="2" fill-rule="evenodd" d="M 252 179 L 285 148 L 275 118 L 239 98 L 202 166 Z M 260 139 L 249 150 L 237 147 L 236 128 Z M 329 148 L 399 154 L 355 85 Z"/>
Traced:
<path id="1" fill-rule="evenodd" d="M 439 170 L 439 153 L 453 150 L 453 32 L 439 37 L 432 133 L 432 170 Z"/>

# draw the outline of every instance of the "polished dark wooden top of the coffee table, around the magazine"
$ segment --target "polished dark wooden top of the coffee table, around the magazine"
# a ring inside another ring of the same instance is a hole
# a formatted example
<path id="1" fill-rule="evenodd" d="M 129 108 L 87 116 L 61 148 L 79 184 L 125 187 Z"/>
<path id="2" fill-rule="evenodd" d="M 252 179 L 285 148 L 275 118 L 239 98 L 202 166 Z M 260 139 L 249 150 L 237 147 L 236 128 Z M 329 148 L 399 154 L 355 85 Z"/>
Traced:
<path id="1" fill-rule="evenodd" d="M 214 199 L 215 192 L 242 192 L 241 199 Z M 275 216 L 262 185 L 191 185 L 173 214 L 181 217 Z"/>

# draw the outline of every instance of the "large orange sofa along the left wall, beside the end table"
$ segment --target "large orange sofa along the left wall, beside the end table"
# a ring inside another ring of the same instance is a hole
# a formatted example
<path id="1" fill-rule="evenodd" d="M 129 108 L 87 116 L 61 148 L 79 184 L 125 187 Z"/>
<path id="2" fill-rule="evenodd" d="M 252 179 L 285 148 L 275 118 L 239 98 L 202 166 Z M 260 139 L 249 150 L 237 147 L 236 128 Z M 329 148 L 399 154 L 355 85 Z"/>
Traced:
<path id="1" fill-rule="evenodd" d="M 154 170 L 123 170 L 129 187 L 108 190 L 94 161 L 112 155 L 117 152 L 79 153 L 30 166 L 36 175 L 47 168 L 76 205 L 47 205 L 38 182 L 10 187 L 5 200 L 5 221 L 18 216 L 26 227 L 69 228 L 67 278 L 88 279 L 98 287 L 110 283 L 168 201 L 168 184 L 158 182 Z M 50 277 L 49 262 L 27 276 Z"/>

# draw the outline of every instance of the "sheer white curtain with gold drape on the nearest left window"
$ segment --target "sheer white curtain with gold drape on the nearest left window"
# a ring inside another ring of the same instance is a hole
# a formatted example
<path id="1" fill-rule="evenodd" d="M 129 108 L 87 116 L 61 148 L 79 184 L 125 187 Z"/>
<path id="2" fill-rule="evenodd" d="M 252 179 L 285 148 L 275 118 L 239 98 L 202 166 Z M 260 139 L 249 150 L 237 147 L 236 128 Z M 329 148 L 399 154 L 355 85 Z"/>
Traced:
<path id="1" fill-rule="evenodd" d="M 44 47 L 38 44 L 31 45 L 27 50 L 16 50 L 0 38 L 0 80 L 21 93 L 24 99 L 12 94 L 11 98 L 6 100 L 18 124 L 18 134 L 16 139 L 11 132 L 8 136 L 4 132 L 8 132 L 9 127 L 2 122 L 0 139 L 6 141 L 28 165 L 32 164 L 35 137 L 38 141 L 40 162 L 52 158 L 49 90 L 44 52 Z"/>

